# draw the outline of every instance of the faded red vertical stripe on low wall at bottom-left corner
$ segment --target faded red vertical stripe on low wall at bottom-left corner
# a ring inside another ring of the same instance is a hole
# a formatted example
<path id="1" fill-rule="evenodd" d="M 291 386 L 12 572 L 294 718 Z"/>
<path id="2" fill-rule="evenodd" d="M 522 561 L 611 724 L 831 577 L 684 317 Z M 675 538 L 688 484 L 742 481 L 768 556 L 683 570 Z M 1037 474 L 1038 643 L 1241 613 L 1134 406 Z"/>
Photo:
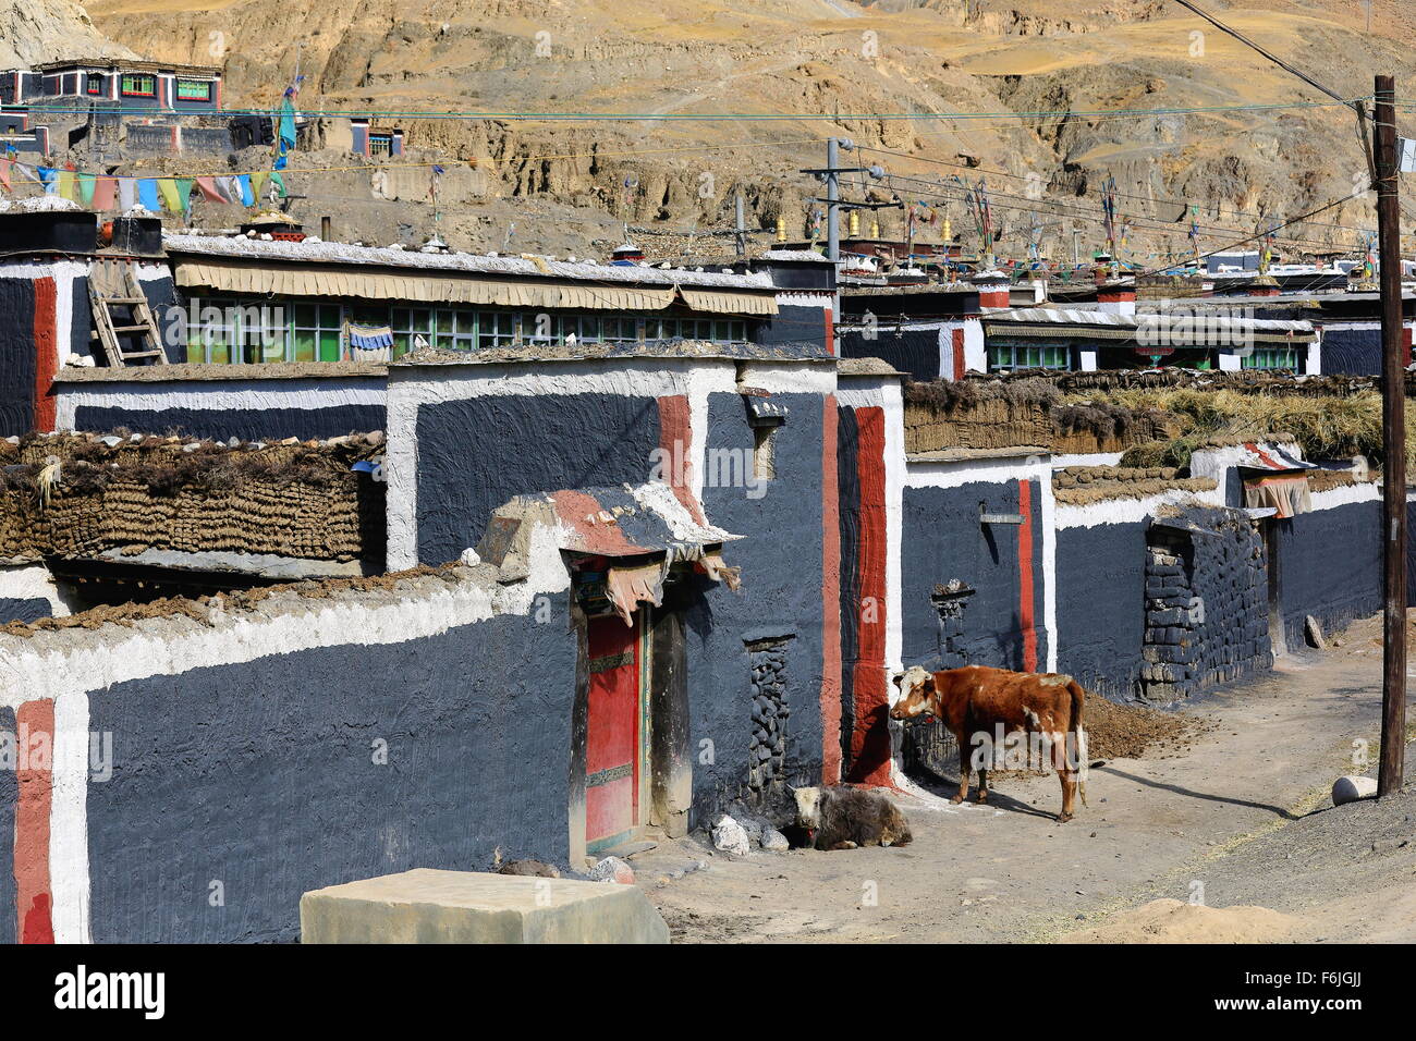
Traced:
<path id="1" fill-rule="evenodd" d="M 54 943 L 50 895 L 50 806 L 54 802 L 54 702 L 25 701 L 14 714 L 20 797 L 14 807 L 16 935 Z"/>

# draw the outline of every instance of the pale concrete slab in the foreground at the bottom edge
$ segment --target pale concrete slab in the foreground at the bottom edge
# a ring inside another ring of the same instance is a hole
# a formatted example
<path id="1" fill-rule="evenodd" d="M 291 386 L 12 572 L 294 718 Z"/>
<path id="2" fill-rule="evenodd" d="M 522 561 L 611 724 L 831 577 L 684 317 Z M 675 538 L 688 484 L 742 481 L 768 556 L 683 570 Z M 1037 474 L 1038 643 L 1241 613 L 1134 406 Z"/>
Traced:
<path id="1" fill-rule="evenodd" d="M 415 868 L 300 897 L 302 943 L 668 943 L 634 885 Z"/>

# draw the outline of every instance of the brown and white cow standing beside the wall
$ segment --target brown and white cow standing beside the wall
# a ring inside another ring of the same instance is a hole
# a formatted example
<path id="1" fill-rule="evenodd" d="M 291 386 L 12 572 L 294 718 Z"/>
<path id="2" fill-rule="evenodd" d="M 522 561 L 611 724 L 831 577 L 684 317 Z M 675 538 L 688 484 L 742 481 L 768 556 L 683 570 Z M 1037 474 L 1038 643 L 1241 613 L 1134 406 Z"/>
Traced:
<path id="1" fill-rule="evenodd" d="M 969 797 L 969 775 L 978 769 L 978 802 L 988 800 L 988 766 L 1004 744 L 1021 735 L 1031 763 L 1034 748 L 1051 752 L 1062 782 L 1062 813 L 1072 820 L 1080 789 L 1086 806 L 1086 731 L 1082 704 L 1086 691 L 1070 676 L 1012 673 L 1007 669 L 966 666 L 930 673 L 913 666 L 895 677 L 901 697 L 891 719 L 930 715 L 943 722 L 959 742 L 959 795 Z M 1014 735 L 1010 738 L 1010 735 Z"/>

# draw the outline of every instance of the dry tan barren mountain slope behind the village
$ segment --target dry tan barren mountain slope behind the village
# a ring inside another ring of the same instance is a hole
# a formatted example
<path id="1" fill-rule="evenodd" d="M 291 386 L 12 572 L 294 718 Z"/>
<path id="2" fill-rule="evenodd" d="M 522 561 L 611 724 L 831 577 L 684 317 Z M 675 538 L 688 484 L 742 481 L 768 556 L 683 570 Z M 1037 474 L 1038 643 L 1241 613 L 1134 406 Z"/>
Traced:
<path id="1" fill-rule="evenodd" d="M 1348 96 L 1369 93 L 1376 69 L 1396 72 L 1408 93 L 1416 88 L 1406 44 L 1416 24 L 1402 0 L 1372 0 L 1371 31 L 1362 0 L 1209 7 Z M 1184 203 L 1199 204 L 1209 225 L 1249 232 L 1260 214 L 1296 215 L 1347 195 L 1365 169 L 1355 119 L 1341 108 L 1078 115 L 1325 101 L 1168 0 L 95 0 L 89 11 L 150 57 L 224 62 L 236 105 L 270 105 L 299 59 L 307 109 L 794 116 L 389 118 L 425 159 L 481 160 L 481 198 L 521 201 L 523 245 L 554 241 L 555 225 L 565 231 L 590 212 L 722 228 L 738 188 L 756 224 L 780 214 L 801 234 L 814 186 L 796 171 L 821 161 L 821 147 L 804 142 L 843 132 L 910 156 L 864 157 L 927 178 L 892 186 L 906 201 L 943 203 L 953 190 L 933 183 L 993 171 L 1000 249 L 1011 255 L 1025 252 L 1034 224 L 1055 252 L 1065 244 L 1070 254 L 1073 227 L 1100 245 L 1096 193 L 1107 174 L 1133 218 L 1130 248 L 1144 255 L 1188 248 L 1177 222 Z M 1018 115 L 952 118 L 966 113 Z M 961 153 L 976 171 L 940 164 Z M 1029 197 L 1029 174 L 1041 200 Z M 636 181 L 629 190 L 626 177 Z M 956 231 L 966 227 L 960 205 L 943 212 Z M 500 234 L 455 200 L 445 220 L 483 244 Z M 1369 207 L 1320 220 L 1369 225 Z M 899 211 L 882 221 L 885 234 L 899 232 Z M 1320 225 L 1294 235 L 1358 241 Z"/>

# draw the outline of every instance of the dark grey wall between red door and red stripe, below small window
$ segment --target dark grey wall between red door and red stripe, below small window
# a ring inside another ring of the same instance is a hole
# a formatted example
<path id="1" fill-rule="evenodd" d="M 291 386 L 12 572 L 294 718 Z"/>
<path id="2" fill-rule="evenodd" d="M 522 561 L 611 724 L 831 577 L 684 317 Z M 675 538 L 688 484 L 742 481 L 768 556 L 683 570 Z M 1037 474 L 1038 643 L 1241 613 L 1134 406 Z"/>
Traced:
<path id="1" fill-rule="evenodd" d="M 702 596 L 687 612 L 691 827 L 709 824 L 721 800 L 739 795 L 748 782 L 746 639 L 794 635 L 786 643 L 786 772 L 794 785 L 817 783 L 821 776 L 823 398 L 773 394 L 772 399 L 787 406 L 789 419 L 775 435 L 776 477 L 766 494 L 749 499 L 742 487 L 704 489 L 708 520 L 745 538 L 724 548 L 728 564 L 742 567 L 742 589 L 733 593 L 702 582 Z M 707 443 L 750 457 L 752 428 L 739 395 L 708 398 Z M 702 762 L 704 739 L 712 742 L 712 762 Z"/>

